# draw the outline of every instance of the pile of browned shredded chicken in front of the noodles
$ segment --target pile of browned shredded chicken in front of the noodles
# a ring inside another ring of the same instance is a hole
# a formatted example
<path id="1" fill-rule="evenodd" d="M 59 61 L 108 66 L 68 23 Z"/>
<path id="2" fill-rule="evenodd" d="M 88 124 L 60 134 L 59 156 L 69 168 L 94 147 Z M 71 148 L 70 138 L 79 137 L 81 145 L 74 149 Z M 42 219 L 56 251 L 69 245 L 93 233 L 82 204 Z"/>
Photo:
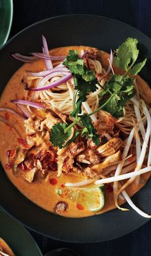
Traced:
<path id="1" fill-rule="evenodd" d="M 59 118 L 66 120 L 66 116 L 59 111 L 56 109 L 53 111 Z M 114 118 L 105 111 L 102 112 L 102 120 L 101 125 L 106 125 L 107 132 L 114 128 Z M 33 114 L 24 122 L 26 140 L 23 140 L 24 144 L 17 148 L 9 161 L 14 173 L 21 175 L 30 183 L 37 178 L 46 177 L 49 171 L 57 171 L 57 176 L 72 172 L 94 178 L 102 169 L 120 160 L 120 151 L 118 151 L 122 144 L 120 138 L 112 138 L 98 148 L 92 139 L 88 139 L 86 145 L 82 141 L 72 142 L 64 149 L 56 148 L 55 150 L 52 147 L 53 150 L 51 150 L 49 131 L 58 122 L 61 120 L 53 116 L 52 110 Z M 105 129 L 102 128 L 101 133 L 104 131 Z M 72 136 L 73 133 L 71 133 Z M 26 147 L 24 147 L 25 144 Z"/>

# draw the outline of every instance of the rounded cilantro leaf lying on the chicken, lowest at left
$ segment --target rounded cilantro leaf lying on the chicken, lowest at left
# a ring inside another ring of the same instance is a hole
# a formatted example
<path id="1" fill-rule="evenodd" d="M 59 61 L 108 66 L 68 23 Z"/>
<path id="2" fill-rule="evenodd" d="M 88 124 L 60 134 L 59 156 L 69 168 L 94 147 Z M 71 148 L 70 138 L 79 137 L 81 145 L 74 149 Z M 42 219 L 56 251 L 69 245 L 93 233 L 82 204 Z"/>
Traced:
<path id="1" fill-rule="evenodd" d="M 64 130 L 67 128 L 66 123 L 57 123 L 51 128 L 50 141 L 55 147 L 62 149 L 66 140 L 71 136 L 71 129 L 64 133 Z"/>

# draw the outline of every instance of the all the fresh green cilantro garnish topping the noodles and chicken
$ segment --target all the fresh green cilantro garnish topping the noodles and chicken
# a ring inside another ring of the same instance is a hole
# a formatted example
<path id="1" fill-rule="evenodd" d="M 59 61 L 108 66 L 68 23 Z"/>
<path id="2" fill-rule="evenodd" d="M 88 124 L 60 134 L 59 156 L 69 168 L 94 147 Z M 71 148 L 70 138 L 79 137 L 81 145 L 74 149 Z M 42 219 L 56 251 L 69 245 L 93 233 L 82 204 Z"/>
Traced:
<path id="1" fill-rule="evenodd" d="M 50 140 L 54 146 L 58 146 L 59 148 L 66 147 L 71 144 L 71 142 L 75 142 L 79 134 L 91 138 L 97 146 L 100 144 L 98 133 L 91 122 L 90 116 L 100 111 L 100 109 L 111 113 L 112 116 L 116 118 L 123 116 L 123 107 L 125 103 L 134 96 L 134 77 L 130 78 L 128 74 L 131 74 L 132 76 L 138 74 L 147 61 L 147 59 L 145 59 L 141 63 L 135 64 L 139 54 L 137 45 L 137 39 L 128 38 L 116 50 L 114 62 L 117 67 L 125 70 L 125 74 L 112 75 L 111 80 L 107 81 L 105 86 L 102 87 L 103 90 L 100 93 L 100 107 L 90 114 L 82 114 L 82 102 L 87 100 L 89 92 L 96 91 L 97 84 L 99 83 L 94 71 L 87 69 L 84 59 L 78 56 L 78 51 L 69 50 L 63 64 L 74 76 L 76 91 L 73 97 L 73 112 L 71 112 L 70 116 L 74 117 L 75 120 L 68 126 L 66 123 L 57 123 L 56 125 L 53 125 L 51 128 Z M 77 94 L 78 100 L 76 100 Z M 83 128 L 78 131 L 75 130 L 73 137 L 69 140 L 71 129 L 76 124 L 80 124 Z"/>

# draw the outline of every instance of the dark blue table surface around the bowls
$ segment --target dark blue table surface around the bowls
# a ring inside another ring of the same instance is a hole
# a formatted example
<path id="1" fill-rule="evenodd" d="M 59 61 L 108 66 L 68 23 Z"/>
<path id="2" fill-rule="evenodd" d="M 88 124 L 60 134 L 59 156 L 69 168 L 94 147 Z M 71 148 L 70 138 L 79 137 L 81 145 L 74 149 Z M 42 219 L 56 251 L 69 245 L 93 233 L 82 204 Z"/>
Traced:
<path id="1" fill-rule="evenodd" d="M 64 14 L 112 17 L 138 28 L 151 37 L 150 0 L 13 0 L 13 5 L 10 37 L 36 21 Z M 78 251 L 81 256 L 151 255 L 151 222 L 120 239 L 95 244 L 70 244 L 48 239 L 33 231 L 30 233 L 39 244 L 42 253 L 55 248 L 71 248 Z"/>

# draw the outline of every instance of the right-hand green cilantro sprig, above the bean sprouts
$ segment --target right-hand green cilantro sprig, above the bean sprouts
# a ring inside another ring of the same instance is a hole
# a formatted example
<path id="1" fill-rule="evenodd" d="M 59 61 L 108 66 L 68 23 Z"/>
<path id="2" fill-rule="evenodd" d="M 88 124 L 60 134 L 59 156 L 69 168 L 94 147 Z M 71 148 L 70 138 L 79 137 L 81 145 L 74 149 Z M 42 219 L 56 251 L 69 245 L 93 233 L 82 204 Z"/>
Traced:
<path id="1" fill-rule="evenodd" d="M 100 96 L 102 96 L 100 107 L 94 111 L 93 114 L 100 109 L 103 109 L 116 118 L 123 116 L 123 107 L 125 103 L 134 96 L 134 78 L 130 78 L 128 73 L 132 76 L 138 74 L 147 61 L 147 59 L 144 59 L 144 61 L 135 64 L 139 54 L 137 45 L 137 39 L 128 38 L 116 50 L 114 62 L 117 67 L 125 70 L 125 74 L 114 74 L 111 80 L 105 84 L 105 88 L 100 94 Z"/>

